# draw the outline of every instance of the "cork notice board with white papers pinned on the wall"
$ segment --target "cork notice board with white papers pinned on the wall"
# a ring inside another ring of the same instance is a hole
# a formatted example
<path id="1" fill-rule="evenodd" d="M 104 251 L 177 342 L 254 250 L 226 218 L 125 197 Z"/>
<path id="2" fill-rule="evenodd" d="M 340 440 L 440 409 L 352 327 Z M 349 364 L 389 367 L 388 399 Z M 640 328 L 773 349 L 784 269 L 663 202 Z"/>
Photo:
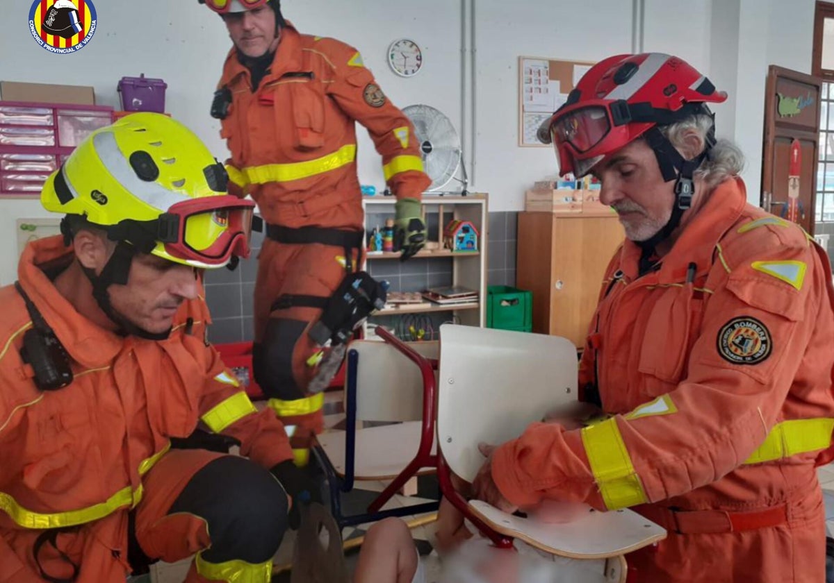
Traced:
<path id="1" fill-rule="evenodd" d="M 567 99 L 590 61 L 560 61 L 544 57 L 519 57 L 520 147 L 550 147 L 535 136 L 542 122 Z"/>

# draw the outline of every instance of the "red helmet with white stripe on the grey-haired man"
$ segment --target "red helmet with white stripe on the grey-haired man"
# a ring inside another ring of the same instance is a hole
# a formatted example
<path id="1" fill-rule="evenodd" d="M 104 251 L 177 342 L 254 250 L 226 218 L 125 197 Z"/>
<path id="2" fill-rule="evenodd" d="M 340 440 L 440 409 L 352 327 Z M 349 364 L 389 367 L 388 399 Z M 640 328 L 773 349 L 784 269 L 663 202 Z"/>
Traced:
<path id="1" fill-rule="evenodd" d="M 585 176 L 600 160 L 651 127 L 676 122 L 726 93 L 679 57 L 661 52 L 616 55 L 590 68 L 538 137 L 553 143 L 559 172 Z"/>

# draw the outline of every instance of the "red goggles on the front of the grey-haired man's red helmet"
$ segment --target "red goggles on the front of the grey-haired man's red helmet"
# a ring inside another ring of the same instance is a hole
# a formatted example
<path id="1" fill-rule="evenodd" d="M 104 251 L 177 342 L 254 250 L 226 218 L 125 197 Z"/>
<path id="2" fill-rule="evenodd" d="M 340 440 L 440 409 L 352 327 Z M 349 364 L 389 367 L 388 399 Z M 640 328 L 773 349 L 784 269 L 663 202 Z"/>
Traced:
<path id="1" fill-rule="evenodd" d="M 650 126 L 647 119 L 634 119 L 625 101 L 599 99 L 558 110 L 541 125 L 539 138 L 553 143 L 561 176 L 573 172 L 580 178 Z"/>

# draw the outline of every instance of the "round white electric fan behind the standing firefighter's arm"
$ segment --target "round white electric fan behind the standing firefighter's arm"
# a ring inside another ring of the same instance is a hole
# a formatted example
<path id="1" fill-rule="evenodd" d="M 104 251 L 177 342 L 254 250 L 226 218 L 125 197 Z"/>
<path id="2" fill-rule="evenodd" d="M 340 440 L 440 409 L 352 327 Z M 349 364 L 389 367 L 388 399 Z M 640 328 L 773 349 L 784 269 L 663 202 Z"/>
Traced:
<path id="1" fill-rule="evenodd" d="M 449 182 L 460 182 L 460 195 L 466 196 L 469 180 L 466 177 L 466 167 L 463 163 L 460 137 L 455 132 L 455 126 L 442 112 L 428 105 L 409 105 L 403 113 L 414 124 L 414 133 L 420 141 L 420 155 L 423 157 L 425 173 L 431 178 L 431 186 L 426 192 L 437 194 L 459 194 L 445 191 Z M 464 177 L 458 178 L 458 168 Z"/>

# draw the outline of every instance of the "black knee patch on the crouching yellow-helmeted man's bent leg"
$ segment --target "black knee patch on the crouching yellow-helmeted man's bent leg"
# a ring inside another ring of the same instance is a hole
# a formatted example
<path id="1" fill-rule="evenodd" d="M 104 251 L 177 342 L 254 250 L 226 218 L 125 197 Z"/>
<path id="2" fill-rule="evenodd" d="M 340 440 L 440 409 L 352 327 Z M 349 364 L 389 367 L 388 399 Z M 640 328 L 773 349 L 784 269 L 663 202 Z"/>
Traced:
<path id="1" fill-rule="evenodd" d="M 289 527 L 284 487 L 268 470 L 243 457 L 209 462 L 183 488 L 168 514 L 188 512 L 208 523 L 211 563 L 268 561 Z"/>

